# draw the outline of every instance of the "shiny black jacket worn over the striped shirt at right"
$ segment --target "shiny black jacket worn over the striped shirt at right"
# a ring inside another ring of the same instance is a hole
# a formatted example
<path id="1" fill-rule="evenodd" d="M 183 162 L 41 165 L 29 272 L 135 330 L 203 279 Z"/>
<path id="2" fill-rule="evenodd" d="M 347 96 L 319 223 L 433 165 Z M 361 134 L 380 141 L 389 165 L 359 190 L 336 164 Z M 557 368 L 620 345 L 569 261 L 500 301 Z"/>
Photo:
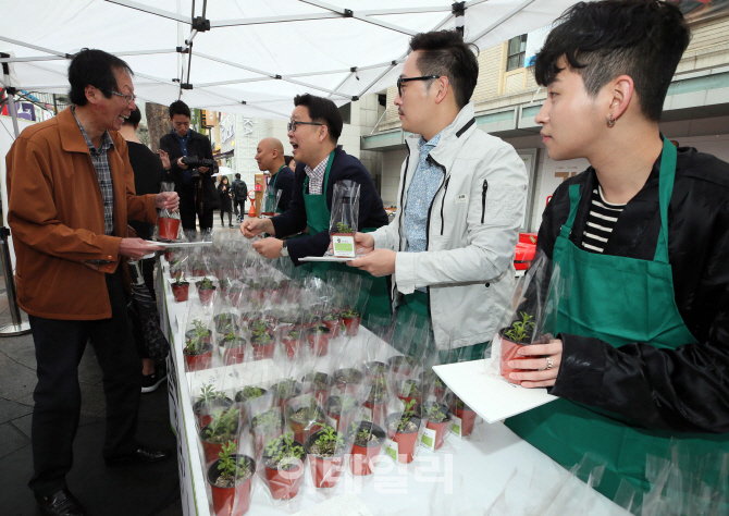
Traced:
<path id="1" fill-rule="evenodd" d="M 605 254 L 653 259 L 660 229 L 659 167 L 660 158 L 620 214 Z M 551 393 L 647 428 L 724 433 L 729 432 L 729 163 L 682 147 L 676 169 L 668 256 L 676 304 L 699 342 L 677 343 L 677 349 L 640 342 L 615 348 L 561 334 L 563 361 Z M 548 257 L 567 221 L 571 184 L 581 193 L 570 236 L 579 245 L 596 185 L 594 169 L 563 183 L 544 210 L 536 245 Z"/>

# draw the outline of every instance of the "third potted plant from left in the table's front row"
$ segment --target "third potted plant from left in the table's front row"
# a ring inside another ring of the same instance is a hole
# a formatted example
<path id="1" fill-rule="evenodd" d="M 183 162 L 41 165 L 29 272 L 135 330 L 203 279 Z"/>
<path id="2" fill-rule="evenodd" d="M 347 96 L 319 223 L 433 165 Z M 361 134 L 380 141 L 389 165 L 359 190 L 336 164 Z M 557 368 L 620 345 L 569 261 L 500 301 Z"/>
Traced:
<path id="1" fill-rule="evenodd" d="M 305 449 L 314 487 L 333 488 L 344 469 L 344 434 L 326 426 L 307 439 Z"/>

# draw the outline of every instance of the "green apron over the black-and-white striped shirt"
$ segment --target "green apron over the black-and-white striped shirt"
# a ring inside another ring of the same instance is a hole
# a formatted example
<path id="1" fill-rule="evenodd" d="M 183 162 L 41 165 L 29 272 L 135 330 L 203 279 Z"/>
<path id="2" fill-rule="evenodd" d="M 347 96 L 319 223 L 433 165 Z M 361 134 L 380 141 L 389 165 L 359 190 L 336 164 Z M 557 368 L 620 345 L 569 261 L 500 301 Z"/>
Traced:
<path id="1" fill-rule="evenodd" d="M 569 235 L 580 186 L 569 187 L 569 218 L 555 243 L 554 265 L 559 266 L 561 278 L 571 281 L 571 294 L 559 299 L 557 332 L 597 337 L 616 347 L 644 342 L 672 349 L 696 342 L 676 306 L 668 262 L 668 204 L 675 172 L 676 148 L 664 138 L 660 234 L 653 261 L 588 253 L 572 244 Z M 729 452 L 729 434 L 646 430 L 596 410 L 559 398 L 507 419 L 506 426 L 565 468 L 578 464 L 588 452 L 606 460 L 597 491 L 609 499 L 621 479 L 639 493 L 647 492 L 646 455 L 666 458 L 671 439 L 692 455 Z"/>

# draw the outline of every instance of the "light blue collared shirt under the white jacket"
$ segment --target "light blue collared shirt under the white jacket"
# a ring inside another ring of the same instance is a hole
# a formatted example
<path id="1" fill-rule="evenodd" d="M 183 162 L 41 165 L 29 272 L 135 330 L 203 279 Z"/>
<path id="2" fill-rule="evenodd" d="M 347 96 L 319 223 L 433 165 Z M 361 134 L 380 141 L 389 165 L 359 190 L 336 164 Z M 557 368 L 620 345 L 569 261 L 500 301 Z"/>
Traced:
<path id="1" fill-rule="evenodd" d="M 428 245 L 428 211 L 435 193 L 443 182 L 443 170 L 428 161 L 428 156 L 441 142 L 441 133 L 430 142 L 422 136 L 418 142 L 418 167 L 408 187 L 408 199 L 405 206 L 405 238 L 408 253 L 423 253 Z M 424 287 L 418 288 L 427 292 Z"/>

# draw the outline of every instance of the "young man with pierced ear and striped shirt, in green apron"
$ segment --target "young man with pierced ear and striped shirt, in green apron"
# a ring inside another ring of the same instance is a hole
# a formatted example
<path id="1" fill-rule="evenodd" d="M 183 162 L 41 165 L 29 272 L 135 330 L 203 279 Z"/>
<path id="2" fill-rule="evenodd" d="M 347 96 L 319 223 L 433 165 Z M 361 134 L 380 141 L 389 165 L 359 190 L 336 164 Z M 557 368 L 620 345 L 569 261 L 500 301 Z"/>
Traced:
<path id="1" fill-rule="evenodd" d="M 643 493 L 646 455 L 729 452 L 729 164 L 660 133 L 690 40 L 678 8 L 580 3 L 559 22 L 536 57 L 535 120 L 552 159 L 591 167 L 540 229 L 570 285 L 556 339 L 508 363 L 511 381 L 560 398 L 507 426 L 567 468 L 606 460 L 608 497 L 621 480 Z"/>

